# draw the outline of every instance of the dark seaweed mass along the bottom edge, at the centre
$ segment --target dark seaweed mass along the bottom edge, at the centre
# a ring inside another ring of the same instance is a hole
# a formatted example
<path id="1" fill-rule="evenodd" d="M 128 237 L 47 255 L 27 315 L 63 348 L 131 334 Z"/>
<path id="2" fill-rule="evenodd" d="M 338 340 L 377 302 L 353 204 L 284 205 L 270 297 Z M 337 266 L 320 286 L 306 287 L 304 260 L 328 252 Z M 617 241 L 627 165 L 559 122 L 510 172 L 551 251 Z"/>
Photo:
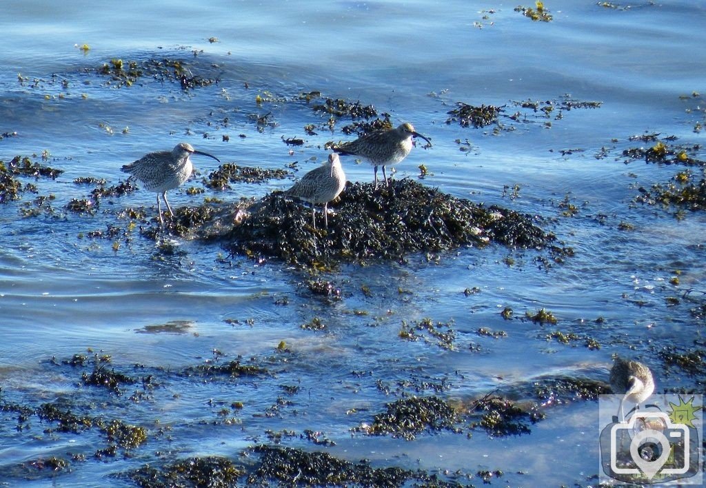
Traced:
<path id="1" fill-rule="evenodd" d="M 252 450 L 259 454 L 260 462 L 247 479 L 249 485 L 275 481 L 303 486 L 399 487 L 410 479 L 428 479 L 424 472 L 372 468 L 364 461 L 354 464 L 323 452 L 266 445 L 255 446 Z"/>

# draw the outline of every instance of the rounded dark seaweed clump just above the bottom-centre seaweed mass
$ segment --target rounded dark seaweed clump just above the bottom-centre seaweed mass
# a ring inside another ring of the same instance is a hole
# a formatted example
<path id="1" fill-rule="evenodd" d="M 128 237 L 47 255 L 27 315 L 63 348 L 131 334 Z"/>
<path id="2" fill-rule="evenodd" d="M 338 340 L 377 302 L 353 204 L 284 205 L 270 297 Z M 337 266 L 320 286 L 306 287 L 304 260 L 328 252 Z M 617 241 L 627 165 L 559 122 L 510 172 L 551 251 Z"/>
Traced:
<path id="1" fill-rule="evenodd" d="M 372 424 L 361 424 L 354 432 L 381 435 L 391 434 L 407 441 L 425 430 L 448 429 L 457 431 L 457 412 L 437 396 L 402 398 L 388 403 L 387 411 L 373 417 Z"/>

